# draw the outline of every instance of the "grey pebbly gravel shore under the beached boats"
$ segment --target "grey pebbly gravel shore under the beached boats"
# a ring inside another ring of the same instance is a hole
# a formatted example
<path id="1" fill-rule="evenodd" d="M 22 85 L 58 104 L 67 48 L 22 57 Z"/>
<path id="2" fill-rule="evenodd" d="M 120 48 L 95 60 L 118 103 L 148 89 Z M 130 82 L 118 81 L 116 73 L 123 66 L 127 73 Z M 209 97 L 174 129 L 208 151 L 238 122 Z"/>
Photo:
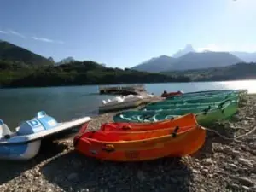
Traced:
<path id="1" fill-rule="evenodd" d="M 96 130 L 112 121 L 105 113 L 90 123 Z M 211 129 L 239 137 L 256 126 L 256 96 L 248 95 L 230 121 Z M 193 156 L 139 163 L 88 158 L 73 151 L 73 137 L 45 143 L 27 162 L 0 163 L 0 191 L 256 191 L 256 131 L 239 141 L 207 131 L 207 141 Z"/>

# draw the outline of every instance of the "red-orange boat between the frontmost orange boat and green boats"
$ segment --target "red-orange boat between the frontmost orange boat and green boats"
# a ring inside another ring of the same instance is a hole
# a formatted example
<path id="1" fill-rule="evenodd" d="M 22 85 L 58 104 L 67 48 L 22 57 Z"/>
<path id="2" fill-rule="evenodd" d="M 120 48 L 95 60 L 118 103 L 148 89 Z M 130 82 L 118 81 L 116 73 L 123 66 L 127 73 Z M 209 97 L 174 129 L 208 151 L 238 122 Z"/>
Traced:
<path id="1" fill-rule="evenodd" d="M 179 126 L 187 127 L 195 125 L 196 119 L 195 114 L 188 113 L 186 115 L 177 117 L 176 119 L 166 119 L 158 122 L 151 123 L 108 123 L 103 124 L 101 131 L 150 131 L 150 130 L 159 130 L 166 129 L 167 127 L 175 128 Z M 86 124 L 82 126 L 81 133 L 86 129 Z"/>

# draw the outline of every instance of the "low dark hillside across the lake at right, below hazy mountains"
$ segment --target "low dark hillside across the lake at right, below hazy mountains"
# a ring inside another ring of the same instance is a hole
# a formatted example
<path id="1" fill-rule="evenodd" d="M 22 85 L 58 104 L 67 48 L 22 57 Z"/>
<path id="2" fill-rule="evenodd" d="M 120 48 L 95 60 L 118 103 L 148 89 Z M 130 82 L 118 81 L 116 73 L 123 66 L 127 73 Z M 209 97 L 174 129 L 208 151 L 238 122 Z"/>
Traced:
<path id="1" fill-rule="evenodd" d="M 212 67 L 186 71 L 164 72 L 163 74 L 188 77 L 192 81 L 224 81 L 256 79 L 256 63 L 237 63 L 227 67 Z"/>

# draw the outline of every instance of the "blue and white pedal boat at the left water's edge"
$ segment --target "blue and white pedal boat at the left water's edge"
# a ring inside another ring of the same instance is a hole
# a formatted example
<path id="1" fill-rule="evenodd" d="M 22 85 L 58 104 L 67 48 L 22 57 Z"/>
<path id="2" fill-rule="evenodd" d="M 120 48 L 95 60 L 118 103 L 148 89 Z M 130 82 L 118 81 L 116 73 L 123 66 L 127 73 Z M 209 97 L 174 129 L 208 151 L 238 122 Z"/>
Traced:
<path id="1" fill-rule="evenodd" d="M 9 130 L 3 120 L 0 120 L 0 159 L 2 160 L 30 160 L 38 154 L 41 141 L 44 137 L 56 135 L 62 131 L 89 121 L 90 117 L 73 119 L 58 123 L 53 117 L 40 111 L 31 120 L 26 120 L 15 128 Z"/>

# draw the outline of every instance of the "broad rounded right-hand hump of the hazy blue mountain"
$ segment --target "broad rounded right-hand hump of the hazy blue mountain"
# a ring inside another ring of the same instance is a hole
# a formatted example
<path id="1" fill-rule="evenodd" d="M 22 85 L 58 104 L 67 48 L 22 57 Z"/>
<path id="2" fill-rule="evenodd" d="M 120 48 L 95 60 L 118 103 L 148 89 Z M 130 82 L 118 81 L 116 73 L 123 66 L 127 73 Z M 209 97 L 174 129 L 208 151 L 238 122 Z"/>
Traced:
<path id="1" fill-rule="evenodd" d="M 200 69 L 209 67 L 225 67 L 243 62 L 240 58 L 227 52 L 189 52 L 177 58 L 177 61 L 172 64 L 166 71 Z"/>

